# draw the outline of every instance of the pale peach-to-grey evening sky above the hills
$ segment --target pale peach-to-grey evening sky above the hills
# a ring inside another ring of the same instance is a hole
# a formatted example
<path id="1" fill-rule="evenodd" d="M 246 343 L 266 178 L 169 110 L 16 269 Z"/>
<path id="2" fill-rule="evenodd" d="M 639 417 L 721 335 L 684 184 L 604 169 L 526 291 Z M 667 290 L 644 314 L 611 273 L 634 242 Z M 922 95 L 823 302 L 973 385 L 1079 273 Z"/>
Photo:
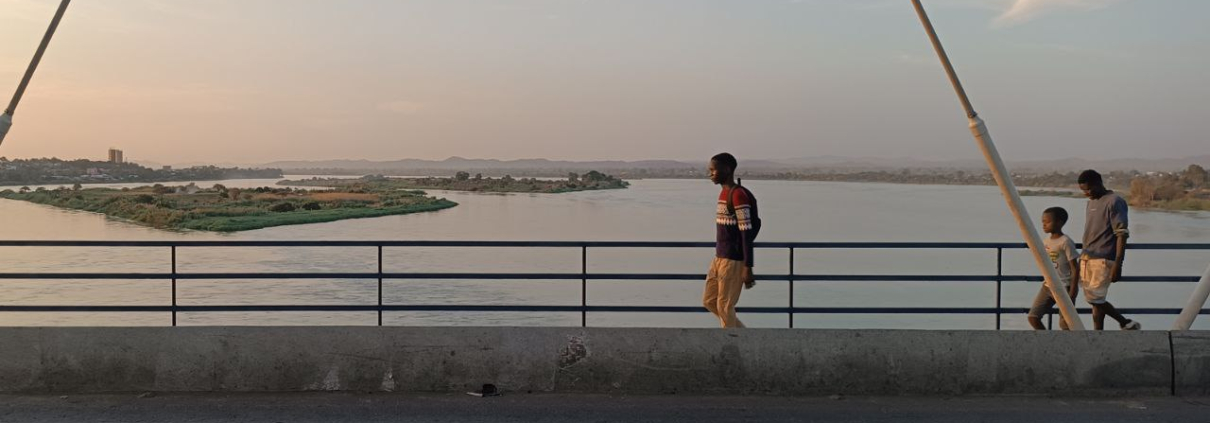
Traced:
<path id="1" fill-rule="evenodd" d="M 0 0 L 7 103 L 57 0 Z M 1007 160 L 1210 153 L 1210 1 L 924 0 Z M 0 156 L 979 157 L 909 0 L 76 0 Z"/>

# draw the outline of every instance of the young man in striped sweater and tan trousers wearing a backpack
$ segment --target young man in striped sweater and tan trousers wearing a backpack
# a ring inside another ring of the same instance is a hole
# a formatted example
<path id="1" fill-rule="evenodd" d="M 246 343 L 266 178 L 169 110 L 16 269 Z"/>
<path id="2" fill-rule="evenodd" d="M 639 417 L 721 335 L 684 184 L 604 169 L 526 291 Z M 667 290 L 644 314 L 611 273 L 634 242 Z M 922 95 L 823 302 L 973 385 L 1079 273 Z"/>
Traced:
<path id="1" fill-rule="evenodd" d="M 736 182 L 736 157 L 719 153 L 710 158 L 710 181 L 722 186 L 715 212 L 714 261 L 705 276 L 702 305 L 719 317 L 722 328 L 744 328 L 736 317 L 743 288 L 756 284 L 753 277 L 753 243 L 760 231 L 760 215 L 751 191 Z"/>

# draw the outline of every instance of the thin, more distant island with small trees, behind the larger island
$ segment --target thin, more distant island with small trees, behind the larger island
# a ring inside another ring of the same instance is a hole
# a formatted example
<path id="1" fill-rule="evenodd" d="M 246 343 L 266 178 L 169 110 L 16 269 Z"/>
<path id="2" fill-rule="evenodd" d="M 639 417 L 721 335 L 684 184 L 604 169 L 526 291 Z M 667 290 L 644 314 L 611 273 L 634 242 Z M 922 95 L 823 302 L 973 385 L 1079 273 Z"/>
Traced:
<path id="1" fill-rule="evenodd" d="M 301 180 L 283 180 L 277 182 L 277 185 L 361 189 L 374 192 L 393 190 L 448 190 L 559 193 L 590 190 L 620 190 L 630 186 L 630 182 L 597 170 L 590 170 L 583 175 L 570 173 L 566 179 L 555 180 L 534 178 L 514 179 L 509 175 L 505 175 L 503 178 L 484 178 L 483 174 L 471 176 L 467 172 L 459 172 L 454 175 L 454 178 L 387 178 L 382 175 L 365 175 L 357 179 L 311 178 Z"/>

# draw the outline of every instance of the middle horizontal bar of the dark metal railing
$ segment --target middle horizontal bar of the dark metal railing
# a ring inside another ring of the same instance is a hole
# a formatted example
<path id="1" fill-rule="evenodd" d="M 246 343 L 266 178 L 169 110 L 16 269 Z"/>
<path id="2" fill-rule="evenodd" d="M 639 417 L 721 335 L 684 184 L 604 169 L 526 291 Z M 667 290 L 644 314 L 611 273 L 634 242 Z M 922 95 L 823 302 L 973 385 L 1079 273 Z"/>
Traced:
<path id="1" fill-rule="evenodd" d="M 697 273 L 0 273 L 4 279 L 472 279 L 472 280 L 703 280 Z M 1042 282 L 1025 274 L 756 274 L 757 280 L 786 282 Z M 1195 276 L 1136 276 L 1122 282 L 1198 282 Z"/>

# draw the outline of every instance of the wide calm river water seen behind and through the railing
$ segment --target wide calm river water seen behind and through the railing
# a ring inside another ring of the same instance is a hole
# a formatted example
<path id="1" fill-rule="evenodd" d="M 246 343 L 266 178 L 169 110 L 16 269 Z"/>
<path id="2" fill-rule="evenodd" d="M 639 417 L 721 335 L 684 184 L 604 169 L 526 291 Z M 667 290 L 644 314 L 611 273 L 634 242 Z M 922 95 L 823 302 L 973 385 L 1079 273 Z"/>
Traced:
<path id="1" fill-rule="evenodd" d="M 290 176 L 300 178 L 300 176 Z M 226 180 L 229 187 L 273 180 Z M 209 186 L 214 181 L 198 181 Z M 143 184 L 128 184 L 129 186 Z M 1020 242 L 996 187 L 852 182 L 749 181 L 760 199 L 762 242 Z M 122 186 L 122 185 L 110 185 Z M 0 187 L 4 189 L 4 187 Z M 636 180 L 628 190 L 560 195 L 431 191 L 453 209 L 240 233 L 173 232 L 103 215 L 0 199 L 0 239 L 456 239 L 456 241 L 713 241 L 718 187 L 704 180 Z M 1026 197 L 1037 219 L 1066 208 L 1077 239 L 1084 202 Z M 1131 212 L 1131 242 L 1208 243 L 1210 213 Z M 182 248 L 180 272 L 374 272 L 373 248 Z M 589 249 L 589 272 L 704 273 L 710 249 Z M 1131 251 L 1127 276 L 1198 276 L 1210 251 Z M 167 272 L 167 248 L 0 248 L 2 272 Z M 757 273 L 786 273 L 785 250 L 759 250 Z M 385 272 L 580 272 L 578 249 L 387 248 Z M 799 250 L 801 274 L 993 274 L 995 250 Z M 1025 250 L 1007 250 L 1006 274 L 1036 274 Z M 182 280 L 180 305 L 374 305 L 374 280 Z M 1004 283 L 1003 305 L 1028 307 L 1038 283 Z M 739 306 L 785 306 L 786 283 L 764 280 Z M 1189 283 L 1119 283 L 1122 308 L 1181 307 Z M 589 282 L 590 305 L 698 306 L 702 283 Z M 397 305 L 578 305 L 580 280 L 386 280 Z M 992 307 L 990 282 L 800 282 L 799 307 Z M 1082 300 L 1077 305 L 1082 305 Z M 168 305 L 167 280 L 0 280 L 0 305 Z M 749 326 L 784 328 L 784 314 L 744 314 Z M 1141 315 L 1145 329 L 1172 317 Z M 578 313 L 388 312 L 388 325 L 578 325 Z M 182 325 L 364 325 L 376 314 L 182 313 Z M 0 313 L 0 325 L 165 325 L 165 313 Z M 703 313 L 593 313 L 593 326 L 710 328 Z M 795 328 L 992 329 L 992 315 L 802 314 Z M 1022 314 L 1002 317 L 1026 329 Z M 1090 320 L 1085 318 L 1085 324 Z M 1195 325 L 1210 329 L 1206 318 Z"/>

